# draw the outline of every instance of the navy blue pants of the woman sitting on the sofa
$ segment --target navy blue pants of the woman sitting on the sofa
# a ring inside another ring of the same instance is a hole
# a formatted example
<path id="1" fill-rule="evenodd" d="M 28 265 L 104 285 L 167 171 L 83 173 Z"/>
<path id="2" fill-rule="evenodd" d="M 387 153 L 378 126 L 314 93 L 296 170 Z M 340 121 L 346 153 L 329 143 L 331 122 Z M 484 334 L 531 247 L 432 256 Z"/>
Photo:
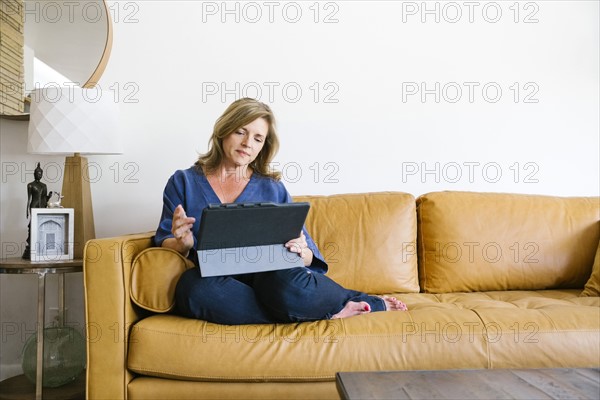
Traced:
<path id="1" fill-rule="evenodd" d="M 365 301 L 371 311 L 386 309 L 380 297 L 345 289 L 308 268 L 215 277 L 191 268 L 175 296 L 180 315 L 225 325 L 330 319 L 348 301 Z"/>

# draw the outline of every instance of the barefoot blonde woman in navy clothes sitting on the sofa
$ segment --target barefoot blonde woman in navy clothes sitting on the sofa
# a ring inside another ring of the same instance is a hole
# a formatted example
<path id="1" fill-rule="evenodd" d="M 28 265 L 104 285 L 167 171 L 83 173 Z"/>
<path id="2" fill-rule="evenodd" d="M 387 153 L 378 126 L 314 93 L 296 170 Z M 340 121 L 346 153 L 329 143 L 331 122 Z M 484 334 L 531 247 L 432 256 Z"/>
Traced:
<path id="1" fill-rule="evenodd" d="M 269 169 L 278 147 L 269 106 L 249 98 L 232 103 L 215 123 L 209 151 L 194 166 L 169 179 L 156 245 L 174 249 L 197 263 L 193 249 L 202 209 L 208 204 L 291 202 L 280 174 Z M 326 277 L 327 264 L 306 229 L 285 246 L 302 257 L 305 267 L 219 277 L 202 277 L 199 268 L 187 270 L 177 283 L 178 312 L 234 325 L 406 310 L 404 303 L 393 297 L 347 290 Z"/>

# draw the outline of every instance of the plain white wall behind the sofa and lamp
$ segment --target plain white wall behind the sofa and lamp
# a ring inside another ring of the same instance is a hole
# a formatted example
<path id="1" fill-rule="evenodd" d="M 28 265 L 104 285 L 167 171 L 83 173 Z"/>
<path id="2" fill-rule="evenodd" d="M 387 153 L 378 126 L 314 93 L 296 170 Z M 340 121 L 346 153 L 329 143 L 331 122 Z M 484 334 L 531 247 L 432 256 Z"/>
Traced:
<path id="1" fill-rule="evenodd" d="M 97 236 L 155 229 L 169 175 L 206 150 L 227 104 L 257 87 L 278 117 L 276 161 L 293 195 L 597 196 L 598 2 L 514 3 L 228 2 L 231 13 L 220 1 L 112 3 L 100 84 L 118 97 L 126 152 L 89 157 Z M 25 125 L 1 125 L 3 257 L 26 236 L 35 161 L 49 173 L 61 163 L 26 154 Z M 2 323 L 31 326 L 34 291 L 19 277 L 0 285 Z M 16 336 L 3 332 L 5 370 L 20 362 Z"/>

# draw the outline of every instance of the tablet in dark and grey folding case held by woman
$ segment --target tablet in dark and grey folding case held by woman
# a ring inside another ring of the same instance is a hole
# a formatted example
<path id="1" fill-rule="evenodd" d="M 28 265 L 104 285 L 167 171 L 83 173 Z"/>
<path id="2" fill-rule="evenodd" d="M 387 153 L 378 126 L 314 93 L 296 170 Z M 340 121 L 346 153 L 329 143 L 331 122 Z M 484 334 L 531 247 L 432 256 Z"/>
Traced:
<path id="1" fill-rule="evenodd" d="M 209 205 L 197 236 L 202 276 L 304 266 L 284 244 L 300 236 L 309 208 L 306 202 Z"/>

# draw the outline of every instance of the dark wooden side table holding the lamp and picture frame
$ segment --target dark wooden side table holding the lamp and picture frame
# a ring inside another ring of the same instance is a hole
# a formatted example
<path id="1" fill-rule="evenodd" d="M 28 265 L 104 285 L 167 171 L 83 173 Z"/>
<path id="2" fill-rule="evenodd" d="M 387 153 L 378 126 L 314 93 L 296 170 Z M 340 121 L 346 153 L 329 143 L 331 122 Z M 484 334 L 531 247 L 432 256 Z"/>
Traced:
<path id="1" fill-rule="evenodd" d="M 64 324 L 65 317 L 65 275 L 71 272 L 82 272 L 83 260 L 61 260 L 61 261 L 29 261 L 21 258 L 7 258 L 0 260 L 0 274 L 37 274 L 38 275 L 38 308 L 37 308 L 37 367 L 35 398 L 42 398 L 42 382 L 44 374 L 44 319 L 46 312 L 46 275 L 58 274 L 58 322 Z M 17 379 L 15 379 L 17 378 Z M 23 385 L 24 377 L 15 377 L 0 382 L 0 393 L 11 393 L 18 398 L 20 393 L 15 393 L 8 386 L 16 381 L 19 382 L 18 392 L 26 390 Z M 9 382 L 10 381 L 10 382 Z M 85 389 L 84 389 L 85 390 Z M 27 396 L 27 393 L 22 393 Z M 85 393 L 84 393 L 85 396 Z"/>

